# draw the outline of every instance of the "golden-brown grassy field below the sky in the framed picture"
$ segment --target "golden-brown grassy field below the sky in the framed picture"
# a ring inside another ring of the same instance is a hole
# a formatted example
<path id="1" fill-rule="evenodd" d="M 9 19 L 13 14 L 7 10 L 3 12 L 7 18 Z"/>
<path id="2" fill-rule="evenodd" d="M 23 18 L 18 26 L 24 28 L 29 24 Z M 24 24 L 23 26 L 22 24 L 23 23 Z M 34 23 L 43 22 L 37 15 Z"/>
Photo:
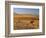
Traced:
<path id="1" fill-rule="evenodd" d="M 39 17 L 33 15 L 14 15 L 14 30 L 38 29 Z"/>

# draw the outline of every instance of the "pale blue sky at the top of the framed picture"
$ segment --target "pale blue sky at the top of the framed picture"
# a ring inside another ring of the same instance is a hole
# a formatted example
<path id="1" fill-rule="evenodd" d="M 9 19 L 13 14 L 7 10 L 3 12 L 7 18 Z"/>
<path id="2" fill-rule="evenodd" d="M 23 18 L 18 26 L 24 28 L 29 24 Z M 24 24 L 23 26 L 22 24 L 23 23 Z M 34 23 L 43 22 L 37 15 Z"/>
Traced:
<path id="1" fill-rule="evenodd" d="M 39 15 L 39 9 L 33 9 L 33 8 L 14 8 L 14 13 L 16 14 L 33 14 L 33 15 Z"/>

